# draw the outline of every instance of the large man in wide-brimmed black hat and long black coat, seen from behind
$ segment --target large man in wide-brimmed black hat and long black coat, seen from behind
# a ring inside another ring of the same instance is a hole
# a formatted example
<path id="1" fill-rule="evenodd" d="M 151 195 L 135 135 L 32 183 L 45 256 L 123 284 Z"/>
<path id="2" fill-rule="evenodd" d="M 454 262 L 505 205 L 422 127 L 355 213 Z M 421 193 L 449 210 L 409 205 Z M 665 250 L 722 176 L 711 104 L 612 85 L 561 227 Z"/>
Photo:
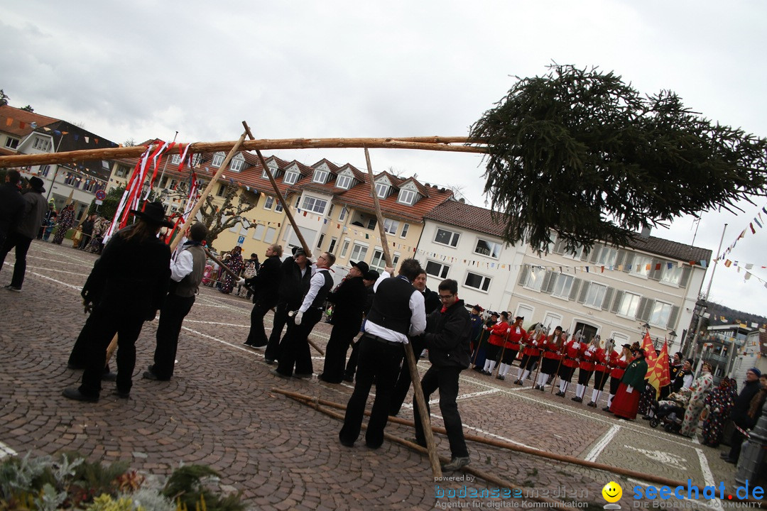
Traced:
<path id="1" fill-rule="evenodd" d="M 136 366 L 136 339 L 144 321 L 163 306 L 170 280 L 170 247 L 157 238 L 160 228 L 173 227 L 160 202 L 131 211 L 138 221 L 115 234 L 96 260 L 83 290 L 100 295 L 91 313 L 92 338 L 80 387 L 66 388 L 65 398 L 98 401 L 107 346 L 117 334 L 117 392 L 130 397 Z M 88 287 L 92 287 L 91 290 Z"/>

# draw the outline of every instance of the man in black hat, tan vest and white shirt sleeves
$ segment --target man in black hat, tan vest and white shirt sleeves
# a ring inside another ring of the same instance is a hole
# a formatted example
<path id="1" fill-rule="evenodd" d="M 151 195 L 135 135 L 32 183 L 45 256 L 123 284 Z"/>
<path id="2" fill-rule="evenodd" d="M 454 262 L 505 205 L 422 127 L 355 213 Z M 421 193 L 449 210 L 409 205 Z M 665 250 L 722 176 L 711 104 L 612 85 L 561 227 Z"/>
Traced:
<path id="1" fill-rule="evenodd" d="M 160 319 L 157 322 L 157 346 L 154 364 L 143 373 L 149 380 L 170 380 L 176 362 L 181 324 L 194 305 L 194 298 L 205 273 L 206 254 L 202 242 L 208 236 L 208 228 L 196 222 L 186 230 L 188 238 L 176 259 L 170 264 L 170 292 L 165 297 Z"/>

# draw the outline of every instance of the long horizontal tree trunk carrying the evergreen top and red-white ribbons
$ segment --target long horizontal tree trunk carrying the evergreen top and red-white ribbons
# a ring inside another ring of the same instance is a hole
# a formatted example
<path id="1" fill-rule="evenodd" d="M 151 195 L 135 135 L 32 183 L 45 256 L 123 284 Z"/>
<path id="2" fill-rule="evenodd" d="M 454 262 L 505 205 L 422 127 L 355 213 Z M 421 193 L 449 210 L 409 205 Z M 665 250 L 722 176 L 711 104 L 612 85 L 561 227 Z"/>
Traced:
<path id="1" fill-rule="evenodd" d="M 451 146 L 449 144 L 473 144 L 466 136 L 415 136 L 389 138 L 320 138 L 320 139 L 253 139 L 242 143 L 243 151 L 255 149 L 348 149 L 360 147 L 389 149 L 423 149 L 426 151 L 477 152 L 489 151 L 487 146 Z M 229 151 L 237 142 L 195 142 L 189 145 L 191 152 Z M 39 154 L 0 156 L 0 167 L 23 167 L 51 163 L 83 162 L 94 159 L 138 158 L 153 146 L 111 147 L 104 149 L 81 149 L 79 151 L 43 152 Z M 179 154 L 180 146 L 168 149 L 166 154 Z"/>

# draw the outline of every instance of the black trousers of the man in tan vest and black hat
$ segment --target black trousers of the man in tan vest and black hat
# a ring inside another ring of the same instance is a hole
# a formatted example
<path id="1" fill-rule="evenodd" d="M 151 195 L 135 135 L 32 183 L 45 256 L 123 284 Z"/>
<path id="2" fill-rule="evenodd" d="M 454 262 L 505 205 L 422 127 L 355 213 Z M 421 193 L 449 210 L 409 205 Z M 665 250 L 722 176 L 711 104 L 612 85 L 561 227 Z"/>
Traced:
<path id="1" fill-rule="evenodd" d="M 194 305 L 194 296 L 169 294 L 160 310 L 157 323 L 157 346 L 154 349 L 152 372 L 160 380 L 170 380 L 176 362 L 176 349 L 179 346 L 181 324 Z M 118 341 L 119 342 L 119 341 Z"/>

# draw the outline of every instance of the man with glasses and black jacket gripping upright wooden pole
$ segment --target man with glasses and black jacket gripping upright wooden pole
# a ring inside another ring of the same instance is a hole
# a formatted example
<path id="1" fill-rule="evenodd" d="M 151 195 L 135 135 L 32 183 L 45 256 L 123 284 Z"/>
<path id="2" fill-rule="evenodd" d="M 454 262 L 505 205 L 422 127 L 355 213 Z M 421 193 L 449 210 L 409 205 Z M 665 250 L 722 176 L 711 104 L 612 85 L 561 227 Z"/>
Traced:
<path id="1" fill-rule="evenodd" d="M 439 283 L 439 300 L 442 309 L 435 310 L 426 318 L 423 339 L 429 349 L 431 367 L 421 379 L 426 411 L 429 398 L 439 388 L 439 411 L 442 412 L 447 439 L 450 443 L 450 462 L 442 470 L 459 470 L 469 464 L 469 450 L 463 437 L 463 424 L 458 413 L 458 377 L 469 367 L 469 342 L 472 323 L 469 311 L 458 299 L 458 283 L 445 279 Z M 426 445 L 418 408 L 413 407 L 416 423 L 416 443 Z"/>

